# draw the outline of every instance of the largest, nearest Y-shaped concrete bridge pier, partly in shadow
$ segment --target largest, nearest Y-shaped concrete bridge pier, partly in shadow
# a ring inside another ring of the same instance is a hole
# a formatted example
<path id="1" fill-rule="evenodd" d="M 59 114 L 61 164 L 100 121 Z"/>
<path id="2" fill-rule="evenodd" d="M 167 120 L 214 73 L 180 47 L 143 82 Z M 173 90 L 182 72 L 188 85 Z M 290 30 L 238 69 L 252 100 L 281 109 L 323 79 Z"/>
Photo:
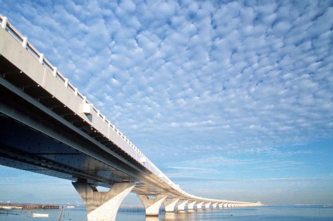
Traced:
<path id="1" fill-rule="evenodd" d="M 98 192 L 86 182 L 72 183 L 86 205 L 88 221 L 115 221 L 118 208 L 135 183 L 115 183 L 108 192 Z"/>

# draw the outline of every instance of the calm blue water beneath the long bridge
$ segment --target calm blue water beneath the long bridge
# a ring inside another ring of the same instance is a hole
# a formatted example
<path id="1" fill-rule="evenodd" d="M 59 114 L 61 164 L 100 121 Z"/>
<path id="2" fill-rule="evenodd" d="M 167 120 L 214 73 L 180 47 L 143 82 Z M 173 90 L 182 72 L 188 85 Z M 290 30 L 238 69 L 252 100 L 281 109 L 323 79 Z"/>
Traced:
<path id="1" fill-rule="evenodd" d="M 33 218 L 32 213 L 48 213 L 46 218 Z M 0 210 L 0 220 L 23 221 L 58 221 L 59 210 Z M 73 209 L 64 209 L 61 217 L 62 221 L 87 221 L 87 214 L 84 206 Z M 251 208 L 235 209 L 209 209 L 209 210 L 189 210 L 178 213 L 160 213 L 159 217 L 146 217 L 144 210 L 135 212 L 118 212 L 117 221 L 210 221 L 210 220 L 273 220 L 273 221 L 332 221 L 333 207 L 323 206 L 262 206 Z"/>

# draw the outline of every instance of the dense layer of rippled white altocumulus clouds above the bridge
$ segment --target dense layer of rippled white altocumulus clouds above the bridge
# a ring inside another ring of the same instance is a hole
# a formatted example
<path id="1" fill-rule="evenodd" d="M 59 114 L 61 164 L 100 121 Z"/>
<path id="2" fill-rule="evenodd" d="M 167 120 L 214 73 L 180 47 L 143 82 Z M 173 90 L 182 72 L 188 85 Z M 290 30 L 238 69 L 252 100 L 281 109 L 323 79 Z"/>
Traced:
<path id="1" fill-rule="evenodd" d="M 332 138 L 332 1 L 0 3 L 150 158 Z"/>

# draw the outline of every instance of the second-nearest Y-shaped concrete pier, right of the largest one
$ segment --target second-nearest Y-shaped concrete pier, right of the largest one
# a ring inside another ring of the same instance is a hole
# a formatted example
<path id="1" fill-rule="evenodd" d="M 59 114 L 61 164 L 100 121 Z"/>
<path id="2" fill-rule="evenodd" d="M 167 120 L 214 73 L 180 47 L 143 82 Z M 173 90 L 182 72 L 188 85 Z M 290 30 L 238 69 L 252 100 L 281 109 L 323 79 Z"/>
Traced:
<path id="1" fill-rule="evenodd" d="M 138 194 L 139 199 L 146 208 L 146 216 L 158 216 L 161 204 L 166 199 L 167 195 L 157 195 L 155 199 L 149 199 L 144 194 Z"/>

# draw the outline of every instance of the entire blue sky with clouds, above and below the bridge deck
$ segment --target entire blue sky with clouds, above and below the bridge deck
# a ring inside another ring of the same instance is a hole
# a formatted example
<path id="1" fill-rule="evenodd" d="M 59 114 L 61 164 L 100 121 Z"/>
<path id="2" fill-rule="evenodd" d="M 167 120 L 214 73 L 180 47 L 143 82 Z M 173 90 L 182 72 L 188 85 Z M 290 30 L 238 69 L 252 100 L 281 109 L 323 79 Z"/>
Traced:
<path id="1" fill-rule="evenodd" d="M 0 5 L 182 190 L 333 204 L 333 1 Z M 4 166 L 0 177 L 0 201 L 80 201 L 67 180 Z"/>

